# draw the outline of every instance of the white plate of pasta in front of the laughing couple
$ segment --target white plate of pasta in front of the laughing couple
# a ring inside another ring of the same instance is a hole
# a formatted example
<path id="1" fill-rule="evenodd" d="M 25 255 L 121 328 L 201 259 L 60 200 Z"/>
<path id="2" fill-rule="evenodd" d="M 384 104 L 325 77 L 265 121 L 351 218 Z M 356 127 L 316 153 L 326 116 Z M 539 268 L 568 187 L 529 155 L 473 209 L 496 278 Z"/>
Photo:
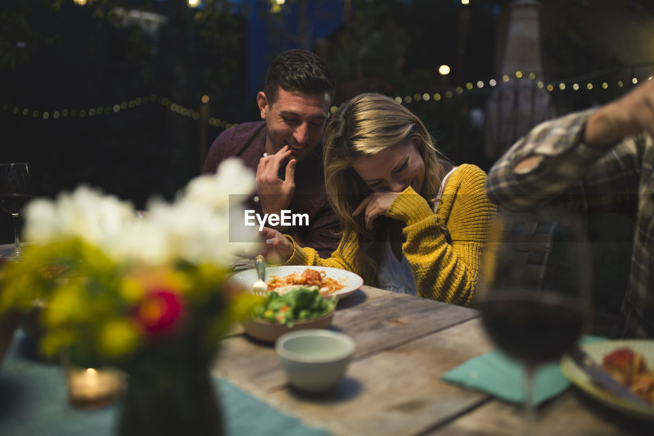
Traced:
<path id="1" fill-rule="evenodd" d="M 237 272 L 230 280 L 230 285 L 252 289 L 259 280 L 254 268 Z M 364 284 L 363 279 L 347 270 L 330 266 L 282 265 L 266 268 L 268 291 L 284 295 L 299 287 L 315 287 L 322 297 L 343 299 Z"/>

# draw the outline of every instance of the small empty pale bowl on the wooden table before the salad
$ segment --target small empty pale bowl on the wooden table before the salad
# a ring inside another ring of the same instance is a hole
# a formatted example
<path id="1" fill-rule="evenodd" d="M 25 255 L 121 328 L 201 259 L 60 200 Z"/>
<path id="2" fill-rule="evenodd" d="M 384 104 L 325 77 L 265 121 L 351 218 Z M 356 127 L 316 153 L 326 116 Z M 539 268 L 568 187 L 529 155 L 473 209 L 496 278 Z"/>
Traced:
<path id="1" fill-rule="evenodd" d="M 275 343 L 290 384 L 309 393 L 334 387 L 345 374 L 355 348 L 350 336 L 319 329 L 286 333 Z"/>

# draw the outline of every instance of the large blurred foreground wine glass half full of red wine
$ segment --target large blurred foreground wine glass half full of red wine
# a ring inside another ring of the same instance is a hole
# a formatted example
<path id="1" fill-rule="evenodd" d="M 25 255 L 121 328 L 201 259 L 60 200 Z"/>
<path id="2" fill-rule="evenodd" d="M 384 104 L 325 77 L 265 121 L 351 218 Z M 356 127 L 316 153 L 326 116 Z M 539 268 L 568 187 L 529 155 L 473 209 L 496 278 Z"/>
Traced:
<path id="1" fill-rule="evenodd" d="M 536 409 L 534 371 L 576 345 L 589 318 L 589 253 L 579 217 L 550 211 L 500 213 L 479 286 L 491 340 L 525 366 L 525 433 Z"/>

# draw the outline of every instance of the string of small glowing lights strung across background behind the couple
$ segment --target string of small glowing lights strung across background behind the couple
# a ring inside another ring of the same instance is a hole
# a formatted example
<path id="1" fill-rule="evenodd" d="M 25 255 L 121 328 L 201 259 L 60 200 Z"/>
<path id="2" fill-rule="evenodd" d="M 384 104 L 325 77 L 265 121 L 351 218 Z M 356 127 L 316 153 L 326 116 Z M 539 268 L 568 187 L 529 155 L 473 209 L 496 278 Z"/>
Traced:
<path id="1" fill-rule="evenodd" d="M 527 81 L 527 79 L 529 79 L 529 81 Z M 515 79 L 512 79 L 511 77 L 509 77 L 509 75 L 503 75 L 499 80 L 496 79 L 490 79 L 489 81 L 480 80 L 477 81 L 475 84 L 473 84 L 473 82 L 468 82 L 464 86 L 456 86 L 454 90 L 447 90 L 445 92 L 435 92 L 433 94 L 431 92 L 423 92 L 422 94 L 416 92 L 413 95 L 407 94 L 404 97 L 395 96 L 394 100 L 397 101 L 398 103 L 405 103 L 405 104 L 413 103 L 415 101 L 429 101 L 432 99 L 434 101 L 440 101 L 443 99 L 450 99 L 455 96 L 460 96 L 462 94 L 479 92 L 484 88 L 494 88 L 498 85 L 509 86 L 512 83 L 515 83 L 515 86 L 520 86 L 521 83 L 525 83 L 525 82 L 530 86 L 532 86 L 532 83 L 535 83 L 536 88 L 545 89 L 549 92 L 564 91 L 564 90 L 578 91 L 584 89 L 593 90 L 595 88 L 597 89 L 601 88 L 602 90 L 607 90 L 613 86 L 616 86 L 617 88 L 623 88 L 624 86 L 628 86 L 629 84 L 635 85 L 638 84 L 639 80 L 651 80 L 652 76 L 643 77 L 642 79 L 638 79 L 638 77 L 632 77 L 630 81 L 626 81 L 626 82 L 625 81 L 611 81 L 611 82 L 593 81 L 593 80 L 581 81 L 579 79 L 580 77 L 574 77 L 573 79 L 564 79 L 560 81 L 552 81 L 546 83 L 543 81 L 536 81 L 535 73 L 528 73 L 524 75 L 521 71 L 516 71 Z M 200 113 L 198 111 L 191 109 L 189 107 L 184 107 L 179 103 L 170 101 L 170 99 L 167 97 L 158 96 L 156 94 L 150 94 L 142 97 L 139 96 L 131 100 L 124 100 L 121 101 L 120 103 L 115 103 L 114 105 L 97 106 L 97 107 L 90 107 L 84 109 L 60 109 L 55 111 L 47 111 L 47 110 L 39 110 L 39 109 L 30 109 L 29 107 L 25 107 L 22 105 L 10 105 L 8 103 L 3 104 L 1 109 L 4 113 L 13 113 L 14 115 L 23 115 L 25 117 L 31 116 L 33 118 L 41 118 L 42 120 L 59 120 L 67 117 L 86 118 L 86 117 L 99 117 L 103 115 L 106 116 L 111 114 L 118 114 L 121 113 L 122 111 L 133 109 L 135 107 L 139 107 L 141 105 L 145 105 L 148 103 L 157 103 L 163 105 L 170 111 L 177 113 L 182 117 L 191 118 L 192 120 L 197 121 L 200 118 Z M 203 96 L 202 103 L 204 104 L 209 103 L 209 97 Z M 337 109 L 336 106 L 332 106 L 330 112 L 334 113 L 336 109 Z M 232 128 L 238 125 L 237 123 L 228 122 L 227 120 L 216 118 L 216 117 L 209 117 L 207 119 L 207 122 L 210 126 L 224 128 L 224 129 Z"/>

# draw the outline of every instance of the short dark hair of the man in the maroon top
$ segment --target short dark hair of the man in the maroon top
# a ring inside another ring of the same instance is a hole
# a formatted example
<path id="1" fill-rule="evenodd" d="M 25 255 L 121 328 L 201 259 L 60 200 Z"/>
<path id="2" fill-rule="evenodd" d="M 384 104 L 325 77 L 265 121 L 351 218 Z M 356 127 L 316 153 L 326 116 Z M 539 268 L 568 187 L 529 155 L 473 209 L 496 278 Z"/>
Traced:
<path id="1" fill-rule="evenodd" d="M 328 93 L 332 100 L 336 81 L 322 59 L 298 48 L 286 50 L 268 68 L 264 93 L 269 103 L 277 100 L 279 88 L 305 94 Z"/>

